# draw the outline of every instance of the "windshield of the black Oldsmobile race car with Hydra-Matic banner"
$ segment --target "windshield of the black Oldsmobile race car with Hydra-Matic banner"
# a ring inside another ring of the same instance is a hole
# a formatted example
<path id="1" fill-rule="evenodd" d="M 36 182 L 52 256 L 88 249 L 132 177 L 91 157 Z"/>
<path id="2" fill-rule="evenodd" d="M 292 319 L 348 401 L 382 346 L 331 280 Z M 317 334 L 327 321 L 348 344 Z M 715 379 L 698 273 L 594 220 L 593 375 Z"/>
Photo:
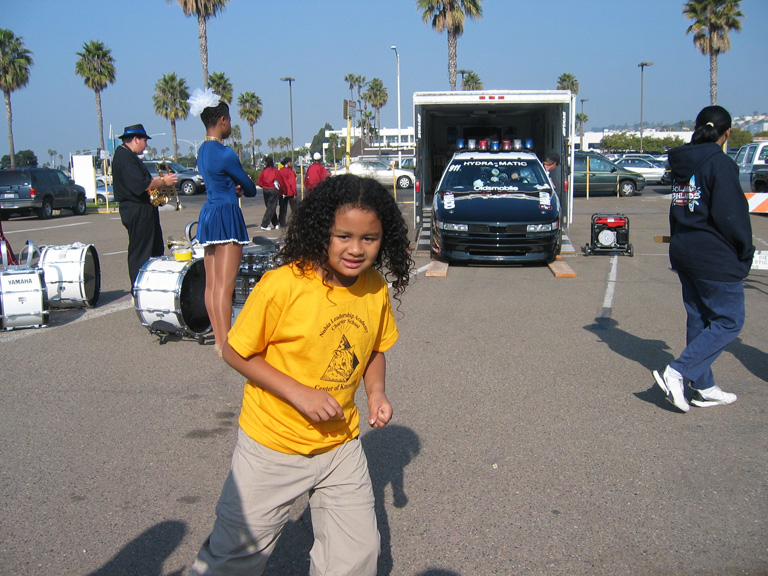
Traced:
<path id="1" fill-rule="evenodd" d="M 535 160 L 509 158 L 455 159 L 440 190 L 454 193 L 539 192 L 549 189 L 544 169 Z"/>

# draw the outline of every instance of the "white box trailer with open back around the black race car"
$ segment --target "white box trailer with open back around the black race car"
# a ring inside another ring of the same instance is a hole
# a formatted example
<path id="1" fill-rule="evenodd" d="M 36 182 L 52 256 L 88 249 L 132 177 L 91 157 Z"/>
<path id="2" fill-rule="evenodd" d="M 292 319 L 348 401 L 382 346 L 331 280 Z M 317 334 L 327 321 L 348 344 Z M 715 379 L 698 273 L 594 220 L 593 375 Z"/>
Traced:
<path id="1" fill-rule="evenodd" d="M 473 90 L 415 92 L 416 188 L 414 225 L 421 228 L 425 201 L 456 151 L 457 140 L 530 140 L 540 159 L 555 152 L 560 167 L 552 180 L 563 207 L 563 226 L 573 218 L 572 135 L 576 98 L 568 90 Z M 565 181 L 569 181 L 565 186 Z"/>

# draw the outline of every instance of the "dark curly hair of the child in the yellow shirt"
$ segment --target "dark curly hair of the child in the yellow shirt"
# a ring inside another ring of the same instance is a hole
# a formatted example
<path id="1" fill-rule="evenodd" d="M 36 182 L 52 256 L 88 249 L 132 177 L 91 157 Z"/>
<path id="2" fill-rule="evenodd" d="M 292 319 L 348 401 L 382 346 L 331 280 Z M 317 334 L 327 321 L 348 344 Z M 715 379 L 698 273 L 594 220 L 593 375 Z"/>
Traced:
<path id="1" fill-rule="evenodd" d="M 330 273 L 328 246 L 336 214 L 342 208 L 359 208 L 376 214 L 382 242 L 373 267 L 392 282 L 399 301 L 413 269 L 408 226 L 387 189 L 371 178 L 351 174 L 326 178 L 312 190 L 291 216 L 278 261 L 296 262 L 302 271 L 313 268 Z"/>

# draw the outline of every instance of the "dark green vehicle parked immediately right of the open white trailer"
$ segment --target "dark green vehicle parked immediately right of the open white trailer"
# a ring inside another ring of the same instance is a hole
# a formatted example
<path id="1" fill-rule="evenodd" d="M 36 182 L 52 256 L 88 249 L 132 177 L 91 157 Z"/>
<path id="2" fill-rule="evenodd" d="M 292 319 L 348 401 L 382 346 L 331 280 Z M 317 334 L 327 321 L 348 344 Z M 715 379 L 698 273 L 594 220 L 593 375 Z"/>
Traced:
<path id="1" fill-rule="evenodd" d="M 587 170 L 589 166 L 589 170 Z M 576 152 L 573 159 L 573 193 L 585 196 L 589 177 L 589 194 L 632 196 L 645 188 L 645 177 L 617 166 L 597 152 Z"/>

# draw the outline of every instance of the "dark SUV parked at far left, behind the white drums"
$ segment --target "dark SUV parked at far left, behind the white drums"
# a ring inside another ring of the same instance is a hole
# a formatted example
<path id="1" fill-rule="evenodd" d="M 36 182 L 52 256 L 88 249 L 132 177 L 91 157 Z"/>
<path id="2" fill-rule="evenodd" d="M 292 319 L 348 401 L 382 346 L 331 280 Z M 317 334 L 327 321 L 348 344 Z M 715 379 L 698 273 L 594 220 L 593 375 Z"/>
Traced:
<path id="1" fill-rule="evenodd" d="M 78 216 L 85 214 L 85 188 L 78 186 L 61 170 L 51 168 L 13 168 L 0 170 L 0 214 L 37 213 L 50 218 L 54 210 L 68 208 Z"/>

